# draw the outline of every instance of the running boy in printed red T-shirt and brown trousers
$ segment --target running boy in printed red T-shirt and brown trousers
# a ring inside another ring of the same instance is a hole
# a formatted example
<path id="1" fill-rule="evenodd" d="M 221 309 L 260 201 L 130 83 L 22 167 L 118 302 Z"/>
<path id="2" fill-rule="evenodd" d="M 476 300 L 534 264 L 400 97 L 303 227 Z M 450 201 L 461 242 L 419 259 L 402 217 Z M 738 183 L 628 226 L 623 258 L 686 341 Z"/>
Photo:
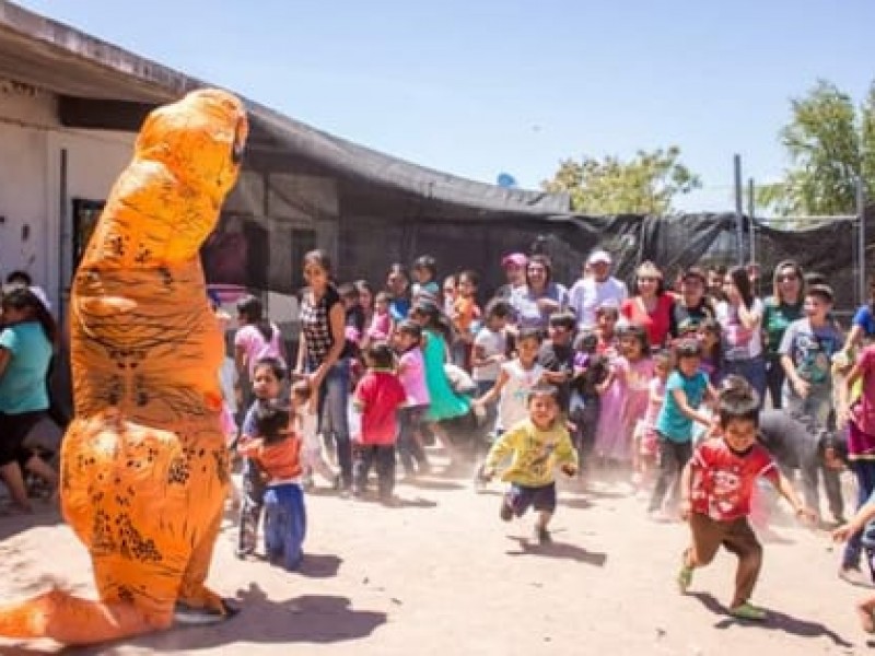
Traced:
<path id="1" fill-rule="evenodd" d="M 693 569 L 709 564 L 723 544 L 738 557 L 730 614 L 762 621 L 766 611 L 750 602 L 762 564 L 762 546 L 747 522 L 757 478 L 768 479 L 797 517 L 814 522 L 816 515 L 802 504 L 769 452 L 757 443 L 759 399 L 749 385 L 739 387 L 721 393 L 721 435 L 700 444 L 684 468 L 681 516 L 690 525 L 692 543 L 684 552 L 677 581 L 686 593 Z"/>

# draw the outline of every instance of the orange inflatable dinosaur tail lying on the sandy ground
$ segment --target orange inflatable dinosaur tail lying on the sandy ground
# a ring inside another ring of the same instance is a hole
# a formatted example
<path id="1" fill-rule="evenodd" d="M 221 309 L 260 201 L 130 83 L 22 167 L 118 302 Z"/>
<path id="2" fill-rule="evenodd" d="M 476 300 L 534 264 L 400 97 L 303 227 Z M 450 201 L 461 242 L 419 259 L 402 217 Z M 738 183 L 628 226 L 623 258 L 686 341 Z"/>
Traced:
<path id="1" fill-rule="evenodd" d="M 3 637 L 49 637 L 66 645 L 84 645 L 160 628 L 150 623 L 131 604 L 80 599 L 60 589 L 0 606 L 0 636 Z"/>

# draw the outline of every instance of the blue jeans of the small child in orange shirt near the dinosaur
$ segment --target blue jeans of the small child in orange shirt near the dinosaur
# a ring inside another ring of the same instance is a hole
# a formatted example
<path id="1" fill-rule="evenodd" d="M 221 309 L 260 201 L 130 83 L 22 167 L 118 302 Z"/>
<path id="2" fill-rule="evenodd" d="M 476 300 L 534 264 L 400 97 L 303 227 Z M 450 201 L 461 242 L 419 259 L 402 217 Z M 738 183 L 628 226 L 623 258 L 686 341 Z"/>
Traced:
<path id="1" fill-rule="evenodd" d="M 270 485 L 265 491 L 265 550 L 271 561 L 296 570 L 304 558 L 307 532 L 304 493 L 296 483 Z"/>

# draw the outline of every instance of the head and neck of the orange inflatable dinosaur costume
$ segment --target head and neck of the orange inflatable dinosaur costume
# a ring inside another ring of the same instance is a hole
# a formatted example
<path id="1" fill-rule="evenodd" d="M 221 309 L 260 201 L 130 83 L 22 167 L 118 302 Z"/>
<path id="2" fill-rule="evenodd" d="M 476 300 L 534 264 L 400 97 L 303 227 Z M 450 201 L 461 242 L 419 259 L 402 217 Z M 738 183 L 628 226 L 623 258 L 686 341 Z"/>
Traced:
<path id="1" fill-rule="evenodd" d="M 241 102 L 195 91 L 143 124 L 81 265 L 162 266 L 194 258 L 237 180 L 248 124 Z M 136 223 L 129 224 L 128 208 Z M 118 223 L 122 223 L 121 226 Z"/>

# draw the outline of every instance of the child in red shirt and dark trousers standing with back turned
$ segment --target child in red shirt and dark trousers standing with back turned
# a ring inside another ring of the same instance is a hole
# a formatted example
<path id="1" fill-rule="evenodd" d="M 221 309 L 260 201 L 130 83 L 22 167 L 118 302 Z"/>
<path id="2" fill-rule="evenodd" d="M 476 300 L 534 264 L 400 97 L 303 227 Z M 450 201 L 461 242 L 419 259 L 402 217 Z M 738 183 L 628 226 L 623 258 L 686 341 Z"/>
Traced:
<path id="1" fill-rule="evenodd" d="M 362 424 L 361 433 L 352 436 L 352 494 L 364 495 L 371 465 L 375 465 L 380 499 L 389 502 L 395 488 L 395 418 L 407 401 L 407 394 L 395 375 L 395 359 L 386 342 L 370 344 L 364 361 L 368 373 L 359 382 L 353 399 L 362 413 Z"/>

